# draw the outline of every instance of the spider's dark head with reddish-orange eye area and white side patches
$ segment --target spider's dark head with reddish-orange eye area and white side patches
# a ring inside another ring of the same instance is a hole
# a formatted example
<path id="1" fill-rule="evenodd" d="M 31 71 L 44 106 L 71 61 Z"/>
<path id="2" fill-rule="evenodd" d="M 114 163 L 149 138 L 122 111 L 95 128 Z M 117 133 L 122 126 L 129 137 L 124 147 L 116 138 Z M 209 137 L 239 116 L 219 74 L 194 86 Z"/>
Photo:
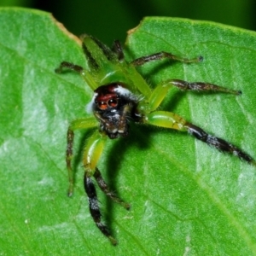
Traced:
<path id="1" fill-rule="evenodd" d="M 137 96 L 120 83 L 102 85 L 94 92 L 89 106 L 100 122 L 101 131 L 109 138 L 127 136 L 129 121 L 136 119 Z"/>

